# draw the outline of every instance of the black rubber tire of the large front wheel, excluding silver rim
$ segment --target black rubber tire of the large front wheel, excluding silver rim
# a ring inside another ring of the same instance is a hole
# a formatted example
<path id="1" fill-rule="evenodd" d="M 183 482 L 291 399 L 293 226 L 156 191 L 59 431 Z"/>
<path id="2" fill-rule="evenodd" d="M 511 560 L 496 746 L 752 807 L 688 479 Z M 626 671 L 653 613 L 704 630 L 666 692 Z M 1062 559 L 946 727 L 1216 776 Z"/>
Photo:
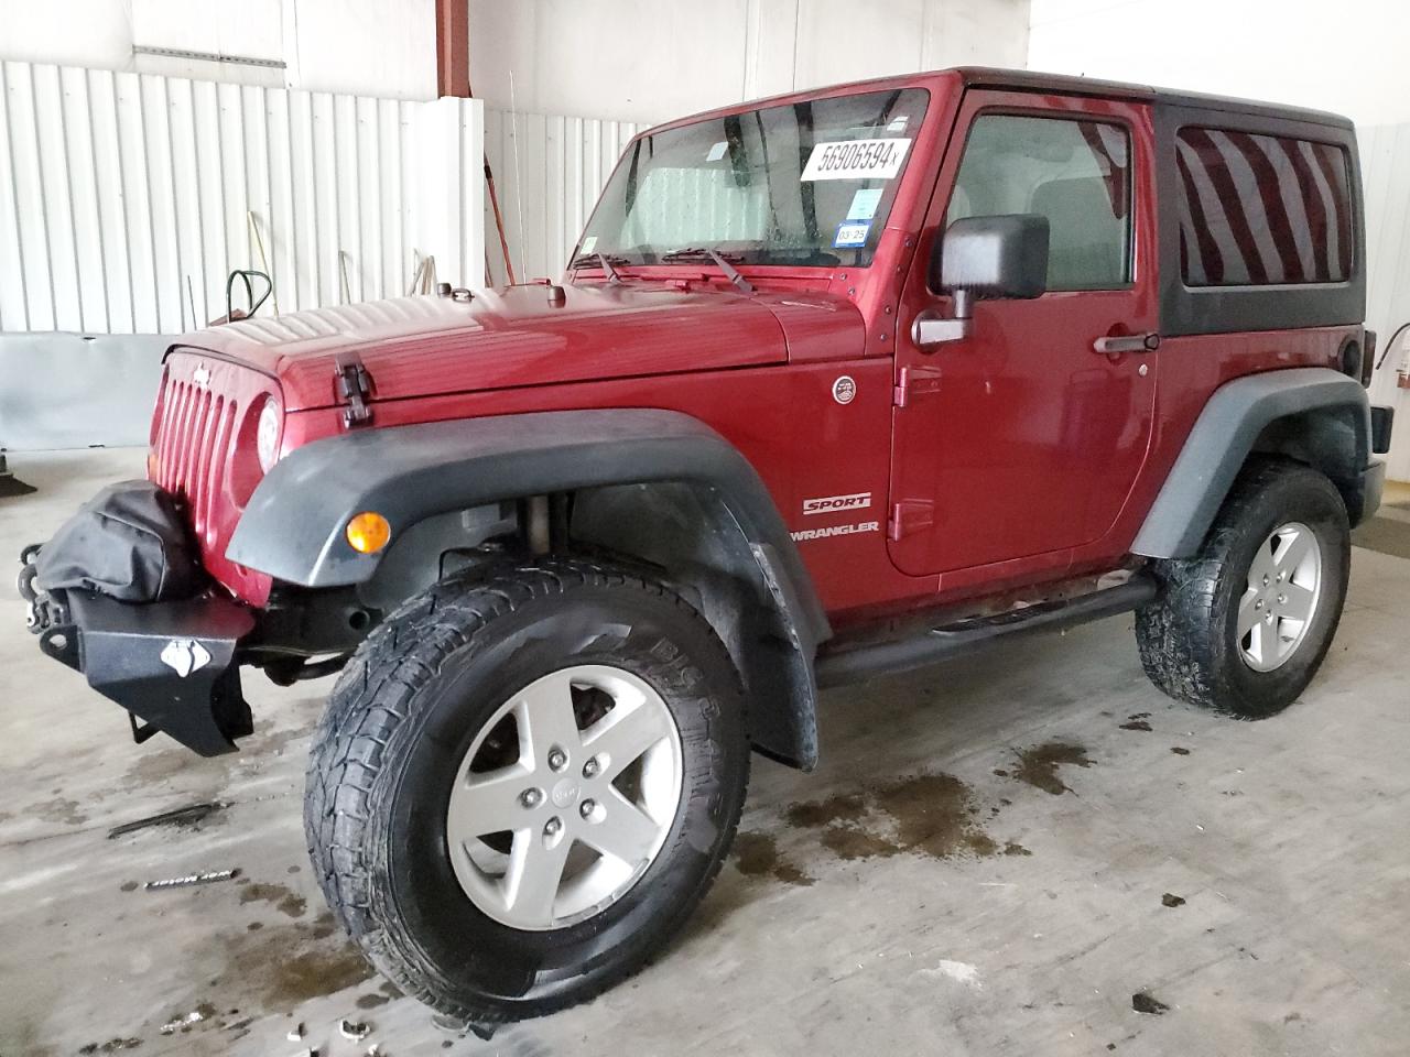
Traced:
<path id="1" fill-rule="evenodd" d="M 509 695 L 580 662 L 625 668 L 666 700 L 681 806 L 616 902 L 565 927 L 510 929 L 455 881 L 448 791 Z M 491 1025 L 592 998 L 660 950 L 719 872 L 747 777 L 739 676 L 705 619 L 636 572 L 544 560 L 441 582 L 367 638 L 314 733 L 305 829 L 329 906 L 369 961 L 426 1005 Z"/>

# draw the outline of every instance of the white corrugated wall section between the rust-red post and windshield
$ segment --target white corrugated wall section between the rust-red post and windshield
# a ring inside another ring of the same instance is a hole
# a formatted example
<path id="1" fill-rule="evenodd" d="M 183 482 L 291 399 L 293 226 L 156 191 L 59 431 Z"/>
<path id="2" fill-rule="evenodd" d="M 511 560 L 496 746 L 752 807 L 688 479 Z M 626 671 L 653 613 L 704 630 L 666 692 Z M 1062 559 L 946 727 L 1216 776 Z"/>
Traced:
<path id="1" fill-rule="evenodd" d="M 629 121 L 485 111 L 485 154 L 520 282 L 563 273 L 602 185 L 639 128 Z M 488 199 L 485 241 L 494 283 L 502 283 L 503 255 Z"/>

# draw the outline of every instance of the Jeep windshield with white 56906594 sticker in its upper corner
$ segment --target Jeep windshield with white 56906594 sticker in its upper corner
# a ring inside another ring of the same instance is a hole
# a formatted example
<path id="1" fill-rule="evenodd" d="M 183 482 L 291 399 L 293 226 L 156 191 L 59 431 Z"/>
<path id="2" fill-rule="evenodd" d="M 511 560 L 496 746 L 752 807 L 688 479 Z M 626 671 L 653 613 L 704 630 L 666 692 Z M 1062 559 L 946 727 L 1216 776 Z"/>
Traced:
<path id="1" fill-rule="evenodd" d="M 574 262 L 871 262 L 925 89 L 815 99 L 651 132 L 627 148 Z M 682 254 L 681 251 L 691 251 Z"/>

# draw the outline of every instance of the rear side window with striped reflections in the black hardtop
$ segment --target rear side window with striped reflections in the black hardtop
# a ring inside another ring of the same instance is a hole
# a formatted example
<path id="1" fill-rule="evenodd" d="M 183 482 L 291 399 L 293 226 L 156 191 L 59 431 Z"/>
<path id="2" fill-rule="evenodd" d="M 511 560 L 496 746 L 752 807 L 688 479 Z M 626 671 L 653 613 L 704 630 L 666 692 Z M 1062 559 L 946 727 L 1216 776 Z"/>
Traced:
<path id="1" fill-rule="evenodd" d="M 1351 278 L 1351 166 L 1341 147 L 1186 127 L 1175 149 L 1186 286 Z"/>

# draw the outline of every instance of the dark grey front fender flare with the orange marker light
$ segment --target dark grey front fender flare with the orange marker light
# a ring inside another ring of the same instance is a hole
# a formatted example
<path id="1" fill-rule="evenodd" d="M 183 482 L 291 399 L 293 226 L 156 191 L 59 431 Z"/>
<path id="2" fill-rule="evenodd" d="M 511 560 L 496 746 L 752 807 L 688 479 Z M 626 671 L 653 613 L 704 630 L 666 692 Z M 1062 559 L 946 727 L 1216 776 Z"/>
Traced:
<path id="1" fill-rule="evenodd" d="M 437 514 L 534 495 L 618 485 L 687 485 L 737 530 L 729 572 L 747 581 L 787 643 L 788 705 L 756 700 L 756 746 L 816 764 L 814 657 L 830 637 L 826 613 L 783 517 L 753 465 L 705 423 L 680 412 L 605 409 L 396 426 L 295 448 L 255 488 L 226 555 L 305 588 L 371 579 L 382 555 L 352 550 L 348 520 L 374 510 L 399 536 Z M 736 655 L 746 686 L 750 658 Z M 777 658 L 770 660 L 777 667 Z M 757 715 L 757 713 L 767 715 Z"/>

